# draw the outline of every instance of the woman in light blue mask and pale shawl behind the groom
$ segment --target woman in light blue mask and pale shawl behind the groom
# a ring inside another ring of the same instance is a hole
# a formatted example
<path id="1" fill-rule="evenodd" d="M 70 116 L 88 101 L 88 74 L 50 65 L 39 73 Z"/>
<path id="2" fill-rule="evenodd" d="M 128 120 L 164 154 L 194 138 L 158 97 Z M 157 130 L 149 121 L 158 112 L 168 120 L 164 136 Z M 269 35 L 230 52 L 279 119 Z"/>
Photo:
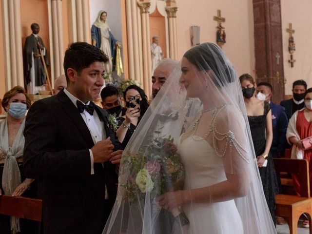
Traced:
<path id="1" fill-rule="evenodd" d="M 34 179 L 25 178 L 22 163 L 25 113 L 31 101 L 24 88 L 15 86 L 4 94 L 1 104 L 7 117 L 0 122 L 0 195 L 29 196 L 29 188 Z M 28 220 L 20 222 L 17 217 L 0 215 L 1 234 L 20 231 L 35 233 L 36 227 L 31 230 L 31 225 L 34 223 Z"/>

